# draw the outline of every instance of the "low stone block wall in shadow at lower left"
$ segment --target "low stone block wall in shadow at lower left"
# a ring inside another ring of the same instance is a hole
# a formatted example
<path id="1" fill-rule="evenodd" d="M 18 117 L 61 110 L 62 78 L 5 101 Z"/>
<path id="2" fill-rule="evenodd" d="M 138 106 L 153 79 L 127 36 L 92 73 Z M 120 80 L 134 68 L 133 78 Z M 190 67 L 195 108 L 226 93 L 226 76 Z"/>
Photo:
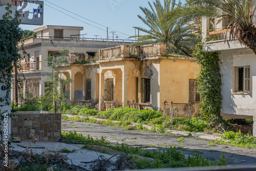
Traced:
<path id="1" fill-rule="evenodd" d="M 61 134 L 61 114 L 17 112 L 11 118 L 11 134 L 30 140 L 33 134 L 38 141 L 58 141 Z"/>

